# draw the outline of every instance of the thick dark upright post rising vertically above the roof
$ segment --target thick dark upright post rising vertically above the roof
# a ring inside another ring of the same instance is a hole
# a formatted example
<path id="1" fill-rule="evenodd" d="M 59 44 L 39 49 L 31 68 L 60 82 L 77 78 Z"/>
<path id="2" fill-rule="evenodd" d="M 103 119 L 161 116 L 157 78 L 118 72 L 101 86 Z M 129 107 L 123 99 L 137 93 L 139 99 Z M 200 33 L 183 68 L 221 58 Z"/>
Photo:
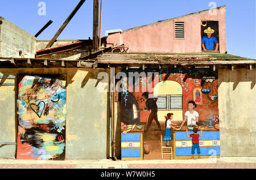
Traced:
<path id="1" fill-rule="evenodd" d="M 93 52 L 98 50 L 98 0 L 93 0 Z"/>

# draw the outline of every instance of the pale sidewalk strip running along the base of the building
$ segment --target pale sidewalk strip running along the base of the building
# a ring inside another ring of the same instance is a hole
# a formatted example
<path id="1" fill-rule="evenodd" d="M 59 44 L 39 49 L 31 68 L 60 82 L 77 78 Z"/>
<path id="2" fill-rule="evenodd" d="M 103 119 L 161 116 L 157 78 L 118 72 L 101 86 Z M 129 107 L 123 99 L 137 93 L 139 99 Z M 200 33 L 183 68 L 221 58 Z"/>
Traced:
<path id="1" fill-rule="evenodd" d="M 144 160 L 144 161 L 112 161 L 104 160 L 15 160 L 0 159 L 0 168 L 14 169 L 154 169 L 154 168 L 256 168 L 254 157 L 225 157 L 200 160 Z"/>

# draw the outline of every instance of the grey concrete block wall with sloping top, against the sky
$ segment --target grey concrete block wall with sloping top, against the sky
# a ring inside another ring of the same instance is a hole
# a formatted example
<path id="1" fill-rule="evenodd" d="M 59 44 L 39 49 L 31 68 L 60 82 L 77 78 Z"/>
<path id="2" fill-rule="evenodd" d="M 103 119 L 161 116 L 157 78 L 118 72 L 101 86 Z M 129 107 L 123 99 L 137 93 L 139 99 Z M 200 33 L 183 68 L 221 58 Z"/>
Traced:
<path id="1" fill-rule="evenodd" d="M 36 38 L 15 24 L 0 17 L 0 57 L 35 57 Z"/>

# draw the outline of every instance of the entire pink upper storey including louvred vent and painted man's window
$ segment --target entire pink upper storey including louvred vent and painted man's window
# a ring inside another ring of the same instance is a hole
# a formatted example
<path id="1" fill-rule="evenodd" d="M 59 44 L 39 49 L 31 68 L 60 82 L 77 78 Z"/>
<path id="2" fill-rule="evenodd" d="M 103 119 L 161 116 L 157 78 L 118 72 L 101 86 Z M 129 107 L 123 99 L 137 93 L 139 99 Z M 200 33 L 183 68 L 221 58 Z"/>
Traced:
<path id="1" fill-rule="evenodd" d="M 127 52 L 226 53 L 226 6 L 106 35 L 108 46 L 124 44 Z"/>

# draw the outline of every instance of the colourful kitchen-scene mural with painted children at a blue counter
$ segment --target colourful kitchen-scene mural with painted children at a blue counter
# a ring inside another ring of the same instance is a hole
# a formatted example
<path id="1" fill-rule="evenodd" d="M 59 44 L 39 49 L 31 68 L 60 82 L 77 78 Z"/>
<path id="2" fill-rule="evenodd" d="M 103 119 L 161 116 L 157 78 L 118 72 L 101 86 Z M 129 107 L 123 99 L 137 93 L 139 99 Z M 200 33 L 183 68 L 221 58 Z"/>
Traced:
<path id="1" fill-rule="evenodd" d="M 138 129 L 137 124 L 133 127 L 123 122 L 122 160 L 220 157 L 218 73 L 212 70 L 160 70 L 158 73 L 154 77 L 158 79 L 156 83 L 147 81 L 149 77 L 139 77 L 138 85 L 126 83 L 126 90 L 129 86 L 139 86 L 140 90 L 151 86 L 153 90 L 129 92 L 133 100 L 121 97 L 121 102 L 126 103 L 137 100 L 142 127 Z M 124 107 L 125 104 L 121 106 L 123 116 L 127 111 Z M 145 145 L 150 149 L 147 153 Z"/>

